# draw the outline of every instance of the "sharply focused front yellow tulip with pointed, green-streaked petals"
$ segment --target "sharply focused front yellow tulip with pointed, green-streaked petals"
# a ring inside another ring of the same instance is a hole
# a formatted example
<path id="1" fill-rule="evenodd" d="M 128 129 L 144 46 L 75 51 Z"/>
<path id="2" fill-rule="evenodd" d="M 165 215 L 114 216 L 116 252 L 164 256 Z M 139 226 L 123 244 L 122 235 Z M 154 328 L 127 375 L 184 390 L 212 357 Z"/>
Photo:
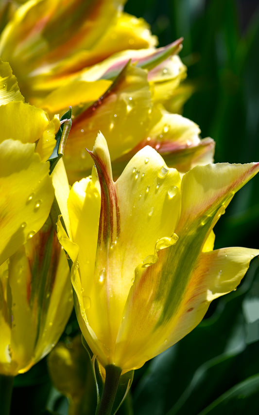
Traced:
<path id="1" fill-rule="evenodd" d="M 142 366 L 188 334 L 210 302 L 237 287 L 258 250 L 213 251 L 213 227 L 259 163 L 196 166 L 181 178 L 151 147 L 115 182 L 102 134 L 91 177 L 68 198 L 71 231 L 58 237 L 73 261 L 82 333 L 100 364 Z M 99 177 L 99 178 L 98 178 Z"/>

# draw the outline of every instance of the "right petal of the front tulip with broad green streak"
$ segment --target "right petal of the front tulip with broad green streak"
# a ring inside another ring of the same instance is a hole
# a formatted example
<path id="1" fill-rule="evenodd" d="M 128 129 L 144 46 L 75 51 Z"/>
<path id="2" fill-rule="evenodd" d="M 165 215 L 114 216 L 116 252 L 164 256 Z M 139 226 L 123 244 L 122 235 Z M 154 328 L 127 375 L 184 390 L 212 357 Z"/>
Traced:
<path id="1" fill-rule="evenodd" d="M 225 207 L 230 202 L 233 194 L 258 170 L 258 163 L 246 165 L 216 164 L 194 167 L 183 176 L 181 216 L 175 230 L 179 240 L 175 246 L 160 251 L 158 261 L 154 265 L 147 269 L 138 267 L 136 270 L 135 284 L 129 294 L 125 307 L 125 318 L 117 338 L 118 361 L 116 361 L 116 364 L 120 365 L 122 359 L 125 361 L 126 347 L 127 350 L 131 350 L 132 356 L 135 354 L 134 359 L 136 359 L 135 364 L 137 365 L 137 355 L 141 347 L 138 343 L 140 332 L 141 342 L 145 345 L 143 362 L 180 340 L 178 338 L 172 343 L 173 337 L 171 339 L 170 333 L 175 332 L 173 319 L 176 315 L 177 319 L 180 318 L 178 311 L 182 310 L 182 304 L 186 303 L 187 291 L 189 287 L 196 284 L 195 270 L 199 261 L 202 261 L 203 258 L 205 260 L 209 257 L 209 254 L 217 255 L 217 252 L 216 254 L 202 252 L 213 246 L 212 228 L 224 213 L 223 205 Z M 223 295 L 237 286 L 247 270 L 250 260 L 258 254 L 258 251 L 239 250 L 241 251 L 237 251 L 237 253 L 243 253 L 243 256 L 241 255 L 241 263 L 237 266 L 235 265 L 235 261 L 237 261 L 235 252 L 233 258 L 231 249 L 227 257 L 223 256 L 223 251 L 221 251 L 219 256 L 220 266 L 222 266 L 222 261 L 225 261 L 225 269 L 231 271 L 232 274 L 228 275 L 223 272 L 218 291 L 214 292 L 215 287 L 210 282 L 210 285 L 206 287 L 206 294 L 207 290 L 211 290 L 215 295 L 214 298 L 216 298 L 216 296 Z M 219 273 L 219 268 L 216 266 L 215 270 Z M 207 269 L 207 272 L 210 275 L 210 269 Z M 211 275 L 213 272 L 212 267 Z M 214 277 L 211 277 L 212 281 Z M 229 281 L 229 284 L 227 281 Z M 224 286 L 226 288 L 222 289 Z M 195 290 L 191 292 L 195 301 Z M 209 297 L 209 301 L 213 299 L 213 295 Z M 191 306 L 188 309 L 192 311 Z M 204 314 L 206 309 L 204 308 Z M 199 315 L 200 319 L 202 317 Z M 197 318 L 196 324 L 199 321 Z M 143 341 L 145 331 L 146 340 Z M 161 342 L 162 333 L 165 336 L 164 343 Z M 129 346 L 129 340 L 127 340 L 126 346 L 125 340 L 129 338 L 132 344 Z M 134 338 L 136 342 L 134 342 Z M 159 343 L 161 346 L 154 355 L 150 355 L 154 348 L 155 339 L 157 339 L 157 344 Z M 171 343 L 169 339 L 171 339 Z M 129 358 L 129 368 L 132 368 L 133 361 L 130 362 Z"/>

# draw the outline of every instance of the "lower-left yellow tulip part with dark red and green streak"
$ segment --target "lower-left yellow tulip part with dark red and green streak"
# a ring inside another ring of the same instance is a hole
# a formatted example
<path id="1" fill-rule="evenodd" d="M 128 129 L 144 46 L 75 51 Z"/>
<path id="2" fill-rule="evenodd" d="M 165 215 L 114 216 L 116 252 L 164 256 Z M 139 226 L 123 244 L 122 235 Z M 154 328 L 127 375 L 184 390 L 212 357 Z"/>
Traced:
<path id="1" fill-rule="evenodd" d="M 29 370 L 64 331 L 73 303 L 67 258 L 60 248 L 47 222 L 0 266 L 1 375 Z"/>

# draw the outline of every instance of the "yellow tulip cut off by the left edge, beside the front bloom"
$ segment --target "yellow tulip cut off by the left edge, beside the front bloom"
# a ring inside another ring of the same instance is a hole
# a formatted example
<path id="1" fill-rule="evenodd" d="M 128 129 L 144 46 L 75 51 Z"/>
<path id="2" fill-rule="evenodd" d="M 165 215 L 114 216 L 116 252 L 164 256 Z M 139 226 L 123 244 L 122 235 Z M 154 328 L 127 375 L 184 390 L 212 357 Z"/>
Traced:
<path id="1" fill-rule="evenodd" d="M 72 296 L 66 256 L 45 223 L 54 198 L 46 161 L 59 120 L 24 103 L 1 61 L 0 123 L 0 375 L 12 378 L 58 341 Z"/>

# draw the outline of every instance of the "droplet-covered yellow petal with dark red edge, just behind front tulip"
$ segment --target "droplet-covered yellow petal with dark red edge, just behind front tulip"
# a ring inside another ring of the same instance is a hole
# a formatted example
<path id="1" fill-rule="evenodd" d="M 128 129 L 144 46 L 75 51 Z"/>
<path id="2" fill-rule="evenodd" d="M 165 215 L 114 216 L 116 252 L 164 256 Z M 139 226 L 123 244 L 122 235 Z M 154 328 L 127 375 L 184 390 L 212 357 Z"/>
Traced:
<path id="1" fill-rule="evenodd" d="M 64 156 L 70 180 L 77 179 L 78 171 L 91 170 L 85 148 L 93 147 L 99 130 L 108 142 L 112 160 L 142 141 L 149 130 L 151 107 L 146 72 L 127 65 L 104 96 L 73 121 Z"/>

